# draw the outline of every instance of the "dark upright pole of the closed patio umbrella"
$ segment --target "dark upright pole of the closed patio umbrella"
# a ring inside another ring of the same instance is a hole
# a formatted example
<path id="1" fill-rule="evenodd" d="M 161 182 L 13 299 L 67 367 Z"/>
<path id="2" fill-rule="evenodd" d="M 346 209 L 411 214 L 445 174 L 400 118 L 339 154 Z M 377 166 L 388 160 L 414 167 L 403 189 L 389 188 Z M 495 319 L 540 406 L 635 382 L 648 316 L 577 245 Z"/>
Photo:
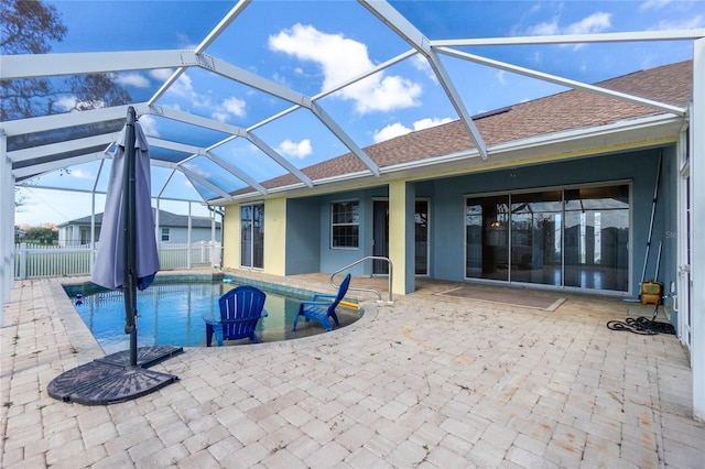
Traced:
<path id="1" fill-rule="evenodd" d="M 122 234 L 124 239 L 124 334 L 130 335 L 130 367 L 137 368 L 137 211 L 134 162 L 134 108 L 128 108 L 124 145 L 124 179 L 122 197 Z"/>

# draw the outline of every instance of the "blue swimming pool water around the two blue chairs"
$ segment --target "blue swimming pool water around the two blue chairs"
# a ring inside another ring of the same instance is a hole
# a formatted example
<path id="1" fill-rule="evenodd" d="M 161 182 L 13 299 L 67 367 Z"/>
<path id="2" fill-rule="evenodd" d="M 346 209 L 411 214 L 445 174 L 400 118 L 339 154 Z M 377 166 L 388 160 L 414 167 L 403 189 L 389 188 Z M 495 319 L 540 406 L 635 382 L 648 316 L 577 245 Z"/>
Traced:
<path id="1" fill-rule="evenodd" d="M 153 284 L 145 291 L 138 292 L 138 347 L 205 347 L 206 326 L 203 315 L 220 317 L 218 298 L 236 286 L 232 283 Z M 258 325 L 260 341 L 290 340 L 325 332 L 318 323 L 305 323 L 303 319 L 299 321 L 295 332 L 291 330 L 300 302 L 311 299 L 312 295 L 285 296 L 262 290 L 267 293 L 264 309 L 269 316 Z M 69 296 L 75 297 L 75 294 L 69 293 Z M 85 294 L 80 304 L 77 303 L 75 302 L 76 310 L 107 355 L 129 349 L 130 336 L 124 334 L 122 292 Z M 346 306 L 338 306 L 336 313 L 340 327 L 360 317 L 358 309 Z M 216 345 L 215 338 L 213 343 Z M 225 342 L 226 346 L 239 343 L 251 341 L 242 339 Z"/>

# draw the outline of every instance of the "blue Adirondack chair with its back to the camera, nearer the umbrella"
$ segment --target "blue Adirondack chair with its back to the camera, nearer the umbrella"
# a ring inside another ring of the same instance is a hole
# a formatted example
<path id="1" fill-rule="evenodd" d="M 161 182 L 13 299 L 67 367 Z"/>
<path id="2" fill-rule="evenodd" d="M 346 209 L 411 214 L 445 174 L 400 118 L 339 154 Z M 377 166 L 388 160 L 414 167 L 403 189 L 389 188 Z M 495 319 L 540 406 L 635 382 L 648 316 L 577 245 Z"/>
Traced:
<path id="1" fill-rule="evenodd" d="M 264 309 L 265 298 L 264 292 L 249 285 L 238 286 L 220 296 L 220 318 L 216 319 L 212 314 L 203 315 L 206 321 L 206 346 L 210 347 L 214 334 L 218 347 L 223 347 L 223 340 L 247 337 L 259 343 L 254 329 L 260 319 L 268 316 Z"/>

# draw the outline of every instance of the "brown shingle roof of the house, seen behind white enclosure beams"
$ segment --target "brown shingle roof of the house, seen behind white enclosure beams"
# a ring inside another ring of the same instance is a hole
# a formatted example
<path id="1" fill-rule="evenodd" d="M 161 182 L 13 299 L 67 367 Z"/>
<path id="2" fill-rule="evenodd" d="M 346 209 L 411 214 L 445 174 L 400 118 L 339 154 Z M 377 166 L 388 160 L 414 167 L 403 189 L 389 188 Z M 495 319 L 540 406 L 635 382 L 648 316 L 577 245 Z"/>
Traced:
<path id="1" fill-rule="evenodd" d="M 686 107 L 693 84 L 693 62 L 685 61 L 636 72 L 596 84 L 599 87 L 647 98 L 668 105 Z M 474 119 L 488 146 L 554 132 L 605 126 L 612 122 L 663 113 L 653 108 L 598 96 L 583 90 L 568 90 L 545 98 L 488 112 Z M 448 155 L 475 148 L 459 120 L 397 137 L 365 149 L 380 168 Z M 490 156 L 491 157 L 491 156 Z M 365 171 L 366 166 L 351 153 L 303 168 L 312 179 Z M 262 183 L 268 189 L 296 184 L 291 174 Z M 246 188 L 234 194 L 246 194 Z"/>

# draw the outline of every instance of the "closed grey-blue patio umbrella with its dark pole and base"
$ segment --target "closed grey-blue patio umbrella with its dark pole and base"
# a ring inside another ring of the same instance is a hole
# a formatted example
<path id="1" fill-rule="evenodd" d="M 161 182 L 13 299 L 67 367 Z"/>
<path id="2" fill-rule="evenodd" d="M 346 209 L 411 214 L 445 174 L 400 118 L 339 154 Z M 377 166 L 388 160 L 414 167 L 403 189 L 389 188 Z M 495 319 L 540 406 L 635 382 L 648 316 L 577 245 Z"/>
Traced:
<path id="1" fill-rule="evenodd" d="M 176 347 L 137 347 L 137 290 L 147 288 L 160 269 L 152 219 L 150 156 L 144 133 L 128 108 L 124 130 L 110 172 L 106 209 L 91 281 L 124 293 L 124 332 L 129 357 L 117 352 L 68 370 L 48 385 L 52 397 L 82 404 L 111 404 L 135 399 L 177 380 L 147 370 L 183 352 Z M 139 360 L 138 360 L 139 355 Z"/>

